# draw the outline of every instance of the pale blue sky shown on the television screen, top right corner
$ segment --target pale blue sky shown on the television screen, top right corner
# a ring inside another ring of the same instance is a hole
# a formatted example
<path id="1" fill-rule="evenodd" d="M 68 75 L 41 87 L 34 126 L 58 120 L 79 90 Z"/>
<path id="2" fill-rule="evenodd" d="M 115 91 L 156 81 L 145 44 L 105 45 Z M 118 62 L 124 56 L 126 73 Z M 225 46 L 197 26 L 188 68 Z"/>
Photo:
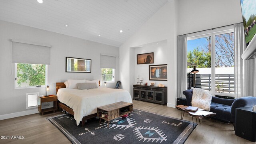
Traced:
<path id="1" fill-rule="evenodd" d="M 252 14 L 256 14 L 256 0 L 240 0 L 242 7 L 242 14 L 246 21 Z"/>

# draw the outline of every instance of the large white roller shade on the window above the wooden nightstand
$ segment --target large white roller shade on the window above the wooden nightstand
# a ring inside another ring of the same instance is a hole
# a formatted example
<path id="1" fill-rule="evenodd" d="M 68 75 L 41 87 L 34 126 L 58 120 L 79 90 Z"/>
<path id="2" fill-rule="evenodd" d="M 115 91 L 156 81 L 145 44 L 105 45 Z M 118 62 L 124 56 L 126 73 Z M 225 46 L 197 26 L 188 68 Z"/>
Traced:
<path id="1" fill-rule="evenodd" d="M 50 65 L 50 47 L 12 39 L 12 63 Z"/>

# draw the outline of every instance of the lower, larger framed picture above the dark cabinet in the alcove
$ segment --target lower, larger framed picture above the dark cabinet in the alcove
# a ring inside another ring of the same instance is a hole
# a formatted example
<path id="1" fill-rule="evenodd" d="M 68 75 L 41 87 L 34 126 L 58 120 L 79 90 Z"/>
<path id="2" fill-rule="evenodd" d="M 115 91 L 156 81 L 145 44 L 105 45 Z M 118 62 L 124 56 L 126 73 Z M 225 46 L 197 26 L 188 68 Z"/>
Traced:
<path id="1" fill-rule="evenodd" d="M 167 81 L 167 64 L 149 65 L 149 80 Z"/>

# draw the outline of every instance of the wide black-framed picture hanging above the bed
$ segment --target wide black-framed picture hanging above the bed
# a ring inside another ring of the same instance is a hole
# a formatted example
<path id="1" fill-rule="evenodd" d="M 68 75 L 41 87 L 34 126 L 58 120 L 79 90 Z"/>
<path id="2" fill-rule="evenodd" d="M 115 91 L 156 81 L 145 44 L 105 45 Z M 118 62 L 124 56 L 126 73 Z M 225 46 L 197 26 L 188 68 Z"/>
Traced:
<path id="1" fill-rule="evenodd" d="M 92 69 L 91 59 L 66 57 L 66 72 L 90 73 Z"/>

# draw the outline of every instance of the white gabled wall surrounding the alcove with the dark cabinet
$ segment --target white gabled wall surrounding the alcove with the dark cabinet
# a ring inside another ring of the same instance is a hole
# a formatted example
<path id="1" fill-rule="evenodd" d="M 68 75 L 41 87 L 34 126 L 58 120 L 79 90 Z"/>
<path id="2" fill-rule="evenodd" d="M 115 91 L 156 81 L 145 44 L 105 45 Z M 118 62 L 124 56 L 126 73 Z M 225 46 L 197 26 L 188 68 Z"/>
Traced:
<path id="1" fill-rule="evenodd" d="M 138 45 L 144 45 L 156 41 L 162 41 L 167 39 L 167 46 L 164 51 L 167 57 L 168 71 L 173 71 L 176 62 L 175 55 L 175 11 L 174 0 L 170 0 L 166 3 L 152 18 L 150 18 L 132 37 L 130 37 L 120 47 L 120 80 L 122 81 L 122 88 L 132 93 L 132 85 L 136 81 L 136 75 L 134 73 L 134 48 Z M 148 70 L 145 71 L 145 74 Z M 134 79 L 135 78 L 135 79 Z M 168 106 L 175 106 L 175 74 L 168 73 Z M 162 83 L 163 81 L 161 81 Z M 136 84 L 136 83 L 135 83 Z"/>

